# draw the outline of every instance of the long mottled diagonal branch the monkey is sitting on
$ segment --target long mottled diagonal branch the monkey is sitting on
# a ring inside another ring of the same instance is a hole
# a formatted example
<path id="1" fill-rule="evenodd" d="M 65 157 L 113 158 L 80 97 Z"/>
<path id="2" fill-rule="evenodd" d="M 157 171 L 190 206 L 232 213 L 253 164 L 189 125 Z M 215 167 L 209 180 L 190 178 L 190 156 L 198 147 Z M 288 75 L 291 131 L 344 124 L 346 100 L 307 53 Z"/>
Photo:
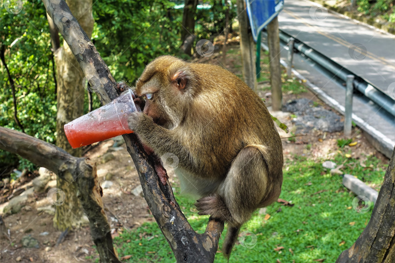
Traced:
<path id="1" fill-rule="evenodd" d="M 92 90 L 102 104 L 109 103 L 119 94 L 116 82 L 95 46 L 83 32 L 64 0 L 43 0 L 55 27 L 70 46 Z M 135 134 L 123 135 L 127 150 L 138 170 L 144 198 L 150 207 L 163 235 L 170 244 L 178 262 L 213 262 L 223 222 L 209 220 L 206 232 L 197 234 L 181 212 L 172 188 L 159 183 L 153 168 L 153 158 L 147 156 Z"/>

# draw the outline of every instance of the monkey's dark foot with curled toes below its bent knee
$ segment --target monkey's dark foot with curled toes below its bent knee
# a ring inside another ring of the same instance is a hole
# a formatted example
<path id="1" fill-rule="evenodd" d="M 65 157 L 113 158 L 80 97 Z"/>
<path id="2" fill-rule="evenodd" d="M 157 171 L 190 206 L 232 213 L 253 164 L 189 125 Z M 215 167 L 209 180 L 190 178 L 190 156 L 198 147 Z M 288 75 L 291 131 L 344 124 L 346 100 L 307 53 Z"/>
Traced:
<path id="1" fill-rule="evenodd" d="M 222 197 L 217 194 L 200 198 L 195 203 L 199 215 L 211 215 L 220 221 L 231 221 L 232 216 Z"/>

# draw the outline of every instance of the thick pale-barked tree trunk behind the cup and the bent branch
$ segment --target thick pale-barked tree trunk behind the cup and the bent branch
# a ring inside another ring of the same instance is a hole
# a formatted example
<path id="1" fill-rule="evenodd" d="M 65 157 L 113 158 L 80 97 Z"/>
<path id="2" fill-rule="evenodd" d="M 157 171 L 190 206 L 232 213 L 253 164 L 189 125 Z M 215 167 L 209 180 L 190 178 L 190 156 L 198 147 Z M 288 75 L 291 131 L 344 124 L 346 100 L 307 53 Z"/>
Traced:
<path id="1" fill-rule="evenodd" d="M 73 15 L 90 37 L 93 30 L 92 0 L 68 0 Z M 72 149 L 64 134 L 63 126 L 83 114 L 84 89 L 82 79 L 84 77 L 79 63 L 71 52 L 69 46 L 63 41 L 63 47 L 55 52 L 55 60 L 58 72 L 58 114 L 56 122 L 57 146 L 74 156 L 81 156 L 81 149 Z M 67 181 L 72 180 L 71 175 L 66 175 Z M 68 178 L 69 177 L 69 178 Z M 57 178 L 57 188 L 66 194 L 66 202 L 56 207 L 54 226 L 59 230 L 67 227 L 79 227 L 83 216 L 82 207 L 77 198 L 77 188 L 62 178 Z"/>

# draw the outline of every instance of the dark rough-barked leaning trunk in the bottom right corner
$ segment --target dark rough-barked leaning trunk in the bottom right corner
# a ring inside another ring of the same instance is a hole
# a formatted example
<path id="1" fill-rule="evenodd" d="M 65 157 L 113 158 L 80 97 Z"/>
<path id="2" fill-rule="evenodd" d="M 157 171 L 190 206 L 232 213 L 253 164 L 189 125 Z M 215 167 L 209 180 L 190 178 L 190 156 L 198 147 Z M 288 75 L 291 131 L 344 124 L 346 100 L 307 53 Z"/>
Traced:
<path id="1" fill-rule="evenodd" d="M 395 262 L 395 149 L 378 193 L 372 216 L 355 243 L 344 250 L 338 263 Z"/>

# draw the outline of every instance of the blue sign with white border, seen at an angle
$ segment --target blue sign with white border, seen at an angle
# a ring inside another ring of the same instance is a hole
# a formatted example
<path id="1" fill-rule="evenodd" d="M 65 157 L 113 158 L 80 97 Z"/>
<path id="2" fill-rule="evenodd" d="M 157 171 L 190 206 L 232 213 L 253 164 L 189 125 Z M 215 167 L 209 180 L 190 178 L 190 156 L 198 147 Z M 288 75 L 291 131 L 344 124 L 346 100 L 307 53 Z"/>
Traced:
<path id="1" fill-rule="evenodd" d="M 272 21 L 284 7 L 284 0 L 245 0 L 253 38 Z"/>

